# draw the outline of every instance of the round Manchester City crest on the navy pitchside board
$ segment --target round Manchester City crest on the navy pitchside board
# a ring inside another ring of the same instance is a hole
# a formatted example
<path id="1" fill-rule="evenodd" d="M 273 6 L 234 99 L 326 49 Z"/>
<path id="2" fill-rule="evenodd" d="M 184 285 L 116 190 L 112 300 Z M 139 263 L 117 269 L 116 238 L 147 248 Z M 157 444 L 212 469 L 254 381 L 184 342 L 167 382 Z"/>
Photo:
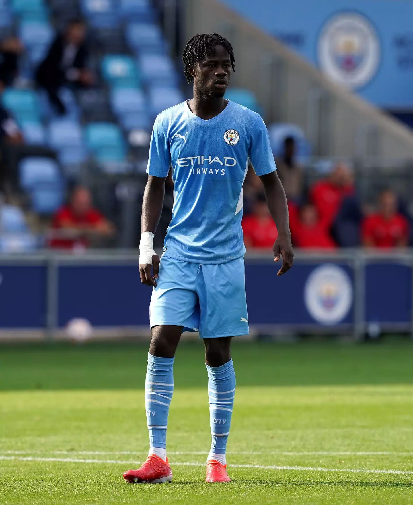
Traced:
<path id="1" fill-rule="evenodd" d="M 321 265 L 308 276 L 304 302 L 319 323 L 340 323 L 351 309 L 353 288 L 347 272 L 338 265 Z"/>

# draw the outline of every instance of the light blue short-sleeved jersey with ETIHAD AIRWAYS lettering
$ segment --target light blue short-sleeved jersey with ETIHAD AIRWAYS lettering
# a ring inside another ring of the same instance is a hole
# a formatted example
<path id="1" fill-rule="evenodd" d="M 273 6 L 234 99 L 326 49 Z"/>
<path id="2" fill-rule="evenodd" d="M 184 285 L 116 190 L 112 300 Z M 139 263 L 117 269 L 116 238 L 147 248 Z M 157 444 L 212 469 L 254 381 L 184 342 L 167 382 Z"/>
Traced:
<path id="1" fill-rule="evenodd" d="M 276 170 L 259 114 L 228 100 L 209 120 L 183 102 L 153 126 L 147 173 L 172 170 L 173 209 L 164 255 L 192 263 L 226 263 L 245 254 L 242 186 L 249 164 L 257 175 Z"/>

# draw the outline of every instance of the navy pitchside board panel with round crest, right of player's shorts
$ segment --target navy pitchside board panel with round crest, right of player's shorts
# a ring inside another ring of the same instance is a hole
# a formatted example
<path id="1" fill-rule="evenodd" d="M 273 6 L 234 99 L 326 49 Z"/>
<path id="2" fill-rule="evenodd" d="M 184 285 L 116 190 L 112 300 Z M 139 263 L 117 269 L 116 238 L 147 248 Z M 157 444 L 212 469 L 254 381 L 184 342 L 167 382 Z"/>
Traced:
<path id="1" fill-rule="evenodd" d="M 246 263 L 251 325 L 339 326 L 353 322 L 354 275 L 348 265 L 296 263 L 277 277 L 280 265 Z"/>

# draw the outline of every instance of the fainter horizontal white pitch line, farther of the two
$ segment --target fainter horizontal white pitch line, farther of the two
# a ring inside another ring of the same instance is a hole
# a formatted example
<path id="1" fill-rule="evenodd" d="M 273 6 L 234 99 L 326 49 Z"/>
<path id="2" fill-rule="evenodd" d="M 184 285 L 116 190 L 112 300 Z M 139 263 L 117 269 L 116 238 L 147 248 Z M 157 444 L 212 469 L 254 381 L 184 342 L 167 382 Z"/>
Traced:
<path id="1" fill-rule="evenodd" d="M 100 450 L 50 450 L 50 451 L 31 451 L 31 450 L 0 450 L 0 454 L 73 454 L 73 455 L 134 455 L 146 454 L 145 450 L 118 450 L 118 451 L 100 451 Z M 247 456 L 413 456 L 413 452 L 393 452 L 393 451 L 227 451 L 227 454 L 247 455 Z M 189 456 L 189 455 L 208 455 L 208 451 L 169 451 L 169 455 Z"/>

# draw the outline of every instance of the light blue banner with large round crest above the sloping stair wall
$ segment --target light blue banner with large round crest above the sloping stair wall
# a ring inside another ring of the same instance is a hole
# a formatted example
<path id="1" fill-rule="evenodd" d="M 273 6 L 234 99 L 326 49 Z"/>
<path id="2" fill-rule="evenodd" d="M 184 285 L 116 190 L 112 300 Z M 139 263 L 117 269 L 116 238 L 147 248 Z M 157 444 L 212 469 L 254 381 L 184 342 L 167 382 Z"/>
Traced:
<path id="1" fill-rule="evenodd" d="M 221 1 L 370 102 L 413 106 L 411 0 Z"/>

